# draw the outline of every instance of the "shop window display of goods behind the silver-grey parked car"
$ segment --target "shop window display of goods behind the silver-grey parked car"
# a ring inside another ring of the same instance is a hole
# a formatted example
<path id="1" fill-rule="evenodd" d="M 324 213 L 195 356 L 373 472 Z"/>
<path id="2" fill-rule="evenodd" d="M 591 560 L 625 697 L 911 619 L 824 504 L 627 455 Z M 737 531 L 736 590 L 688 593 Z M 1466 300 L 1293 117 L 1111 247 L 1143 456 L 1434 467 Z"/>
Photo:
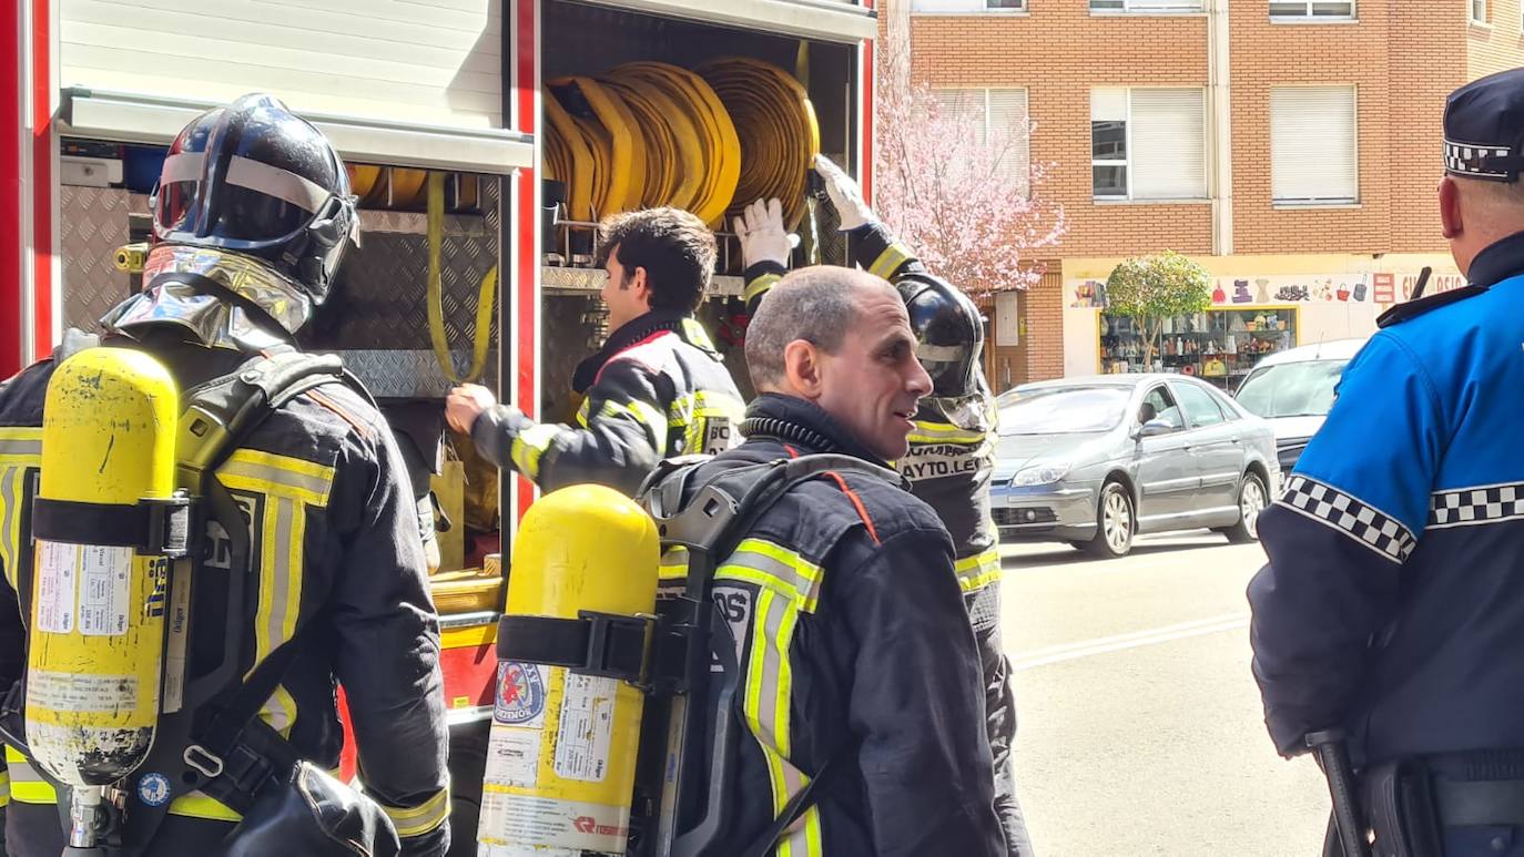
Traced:
<path id="1" fill-rule="evenodd" d="M 1175 371 L 1231 391 L 1265 355 L 1295 346 L 1295 309 L 1209 309 L 1166 318 L 1148 367 L 1137 321 L 1100 315 L 1100 368 L 1108 374 Z"/>

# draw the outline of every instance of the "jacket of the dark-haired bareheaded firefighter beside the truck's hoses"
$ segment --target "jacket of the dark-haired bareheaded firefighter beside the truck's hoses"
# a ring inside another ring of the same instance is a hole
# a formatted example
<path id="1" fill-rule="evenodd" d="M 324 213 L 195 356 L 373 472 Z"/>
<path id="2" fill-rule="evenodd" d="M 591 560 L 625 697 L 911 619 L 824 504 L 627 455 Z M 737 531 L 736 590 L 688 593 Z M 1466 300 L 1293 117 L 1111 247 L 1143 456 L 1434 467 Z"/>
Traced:
<path id="1" fill-rule="evenodd" d="M 741 393 L 692 315 L 651 311 L 626 323 L 576 374 L 587 390 L 576 426 L 497 405 L 471 426 L 482 455 L 541 490 L 597 483 L 634 495 L 663 458 L 738 440 Z"/>

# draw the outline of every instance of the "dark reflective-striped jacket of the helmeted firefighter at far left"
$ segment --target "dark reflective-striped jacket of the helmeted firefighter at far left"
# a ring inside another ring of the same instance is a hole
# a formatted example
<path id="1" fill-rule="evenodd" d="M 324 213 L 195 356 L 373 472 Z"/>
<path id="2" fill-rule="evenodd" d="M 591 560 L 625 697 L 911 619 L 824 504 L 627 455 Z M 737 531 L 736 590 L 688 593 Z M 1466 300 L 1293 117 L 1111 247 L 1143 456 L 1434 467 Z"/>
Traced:
<path id="1" fill-rule="evenodd" d="M 125 338 L 108 344 L 142 347 L 171 370 L 181 390 L 227 374 L 248 359 L 174 333 L 140 344 Z M 18 521 L 30 504 L 53 367 L 52 359 L 38 362 L 0 385 L 0 521 Z M 392 816 L 405 854 L 443 854 L 450 843 L 450 799 L 439 620 L 428 594 L 411 489 L 392 432 L 361 394 L 338 382 L 325 384 L 259 425 L 218 469 L 218 479 L 250 522 L 250 572 L 258 577 L 258 598 L 244 635 L 244 668 L 251 670 L 297 630 L 311 629 L 303 630 L 305 653 L 290 667 L 262 717 L 306 758 L 337 769 L 343 732 L 334 696 L 343 685 L 366 792 Z M 204 563 L 226 568 L 227 557 L 226 531 L 210 524 Z M 29 534 L 20 528 L 0 531 L 3 688 L 24 667 L 26 616 L 15 583 L 18 568 L 30 562 Z M 216 572 L 198 577 L 219 578 Z M 194 612 L 204 603 L 201 598 L 221 603 L 224 595 L 215 588 L 207 583 L 197 591 Z M 215 652 L 223 629 L 194 620 L 192 627 L 192 665 L 204 667 L 198 653 L 204 658 Z M 27 782 L 35 799 L 46 785 L 27 767 L 12 761 L 11 775 Z M 15 798 L 23 801 L 21 787 Z M 11 807 L 12 813 L 18 808 Z M 177 816 L 238 817 L 200 793 L 177 799 L 169 811 L 160 836 L 171 840 Z M 177 851 L 166 843 L 165 852 Z"/>

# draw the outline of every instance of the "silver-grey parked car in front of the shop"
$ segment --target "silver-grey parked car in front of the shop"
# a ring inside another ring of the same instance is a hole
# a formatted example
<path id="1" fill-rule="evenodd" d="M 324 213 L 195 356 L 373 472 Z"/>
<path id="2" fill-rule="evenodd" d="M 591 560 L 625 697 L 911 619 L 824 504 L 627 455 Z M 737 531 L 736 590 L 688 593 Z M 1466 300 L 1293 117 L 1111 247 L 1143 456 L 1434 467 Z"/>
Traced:
<path id="1" fill-rule="evenodd" d="M 1003 540 L 1120 557 L 1140 533 L 1210 527 L 1231 542 L 1279 490 L 1269 423 L 1183 374 L 1102 374 L 1003 393 L 991 487 Z"/>

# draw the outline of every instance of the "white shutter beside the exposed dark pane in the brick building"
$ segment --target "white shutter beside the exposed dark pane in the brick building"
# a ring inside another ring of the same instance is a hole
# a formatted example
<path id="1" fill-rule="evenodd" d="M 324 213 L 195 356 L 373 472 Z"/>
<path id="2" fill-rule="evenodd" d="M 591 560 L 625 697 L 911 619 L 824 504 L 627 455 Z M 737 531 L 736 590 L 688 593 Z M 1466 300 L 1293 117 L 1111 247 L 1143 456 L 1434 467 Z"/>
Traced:
<path id="1" fill-rule="evenodd" d="M 1202 90 L 1132 90 L 1132 198 L 1207 195 Z"/>

